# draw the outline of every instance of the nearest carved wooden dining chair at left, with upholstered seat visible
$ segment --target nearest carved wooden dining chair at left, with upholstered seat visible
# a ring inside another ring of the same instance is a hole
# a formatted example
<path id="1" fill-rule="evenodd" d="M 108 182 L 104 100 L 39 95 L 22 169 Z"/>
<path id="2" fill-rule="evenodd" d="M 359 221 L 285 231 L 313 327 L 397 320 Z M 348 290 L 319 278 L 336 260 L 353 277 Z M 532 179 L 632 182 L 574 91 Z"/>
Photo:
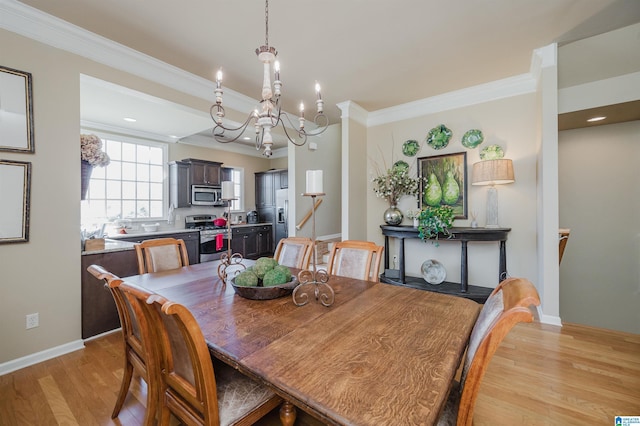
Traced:
<path id="1" fill-rule="evenodd" d="M 214 364 L 200 326 L 183 305 L 140 287 L 123 283 L 123 292 L 137 309 L 146 311 L 159 359 L 158 422 L 171 415 L 189 425 L 250 425 L 277 407 L 282 398 L 222 362 Z M 154 335 L 155 333 L 155 335 Z"/>

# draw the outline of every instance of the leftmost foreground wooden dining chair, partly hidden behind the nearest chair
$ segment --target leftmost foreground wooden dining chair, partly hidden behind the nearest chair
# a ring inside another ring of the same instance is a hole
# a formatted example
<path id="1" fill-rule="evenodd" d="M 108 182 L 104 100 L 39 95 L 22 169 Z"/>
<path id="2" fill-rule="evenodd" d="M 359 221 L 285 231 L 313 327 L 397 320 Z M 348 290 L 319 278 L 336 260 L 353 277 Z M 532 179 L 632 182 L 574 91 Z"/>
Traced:
<path id="1" fill-rule="evenodd" d="M 148 372 L 148 351 L 143 344 L 141 335 L 140 319 L 133 309 L 121 289 L 122 280 L 110 273 L 100 265 L 90 265 L 87 270 L 99 280 L 104 280 L 105 286 L 111 292 L 116 304 L 120 325 L 122 326 L 122 340 L 124 343 L 124 369 L 122 373 L 122 383 L 116 399 L 115 407 L 111 413 L 111 418 L 115 419 L 120 414 L 120 410 L 129 392 L 131 379 L 134 371 L 147 383 L 147 412 L 145 413 L 144 424 L 153 424 L 155 411 L 157 409 L 158 388 L 152 386 Z M 153 361 L 151 361 L 153 363 Z"/>

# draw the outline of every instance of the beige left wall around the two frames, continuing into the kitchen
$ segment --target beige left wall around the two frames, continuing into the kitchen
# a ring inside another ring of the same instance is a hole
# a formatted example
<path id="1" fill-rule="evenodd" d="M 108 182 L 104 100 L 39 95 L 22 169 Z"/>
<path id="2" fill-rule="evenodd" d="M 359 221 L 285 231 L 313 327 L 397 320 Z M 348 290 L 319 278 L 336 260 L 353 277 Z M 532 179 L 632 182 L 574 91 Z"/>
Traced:
<path id="1" fill-rule="evenodd" d="M 135 88 L 192 108 L 208 103 L 0 30 L 2 65 L 33 76 L 35 154 L 2 153 L 30 161 L 30 238 L 0 245 L 0 364 L 80 339 L 80 74 Z M 170 145 L 169 157 L 203 158 L 245 168 L 247 206 L 253 208 L 253 173 L 269 160 Z M 33 267 L 33 265 L 37 267 Z M 25 316 L 40 314 L 40 326 L 25 330 Z"/>

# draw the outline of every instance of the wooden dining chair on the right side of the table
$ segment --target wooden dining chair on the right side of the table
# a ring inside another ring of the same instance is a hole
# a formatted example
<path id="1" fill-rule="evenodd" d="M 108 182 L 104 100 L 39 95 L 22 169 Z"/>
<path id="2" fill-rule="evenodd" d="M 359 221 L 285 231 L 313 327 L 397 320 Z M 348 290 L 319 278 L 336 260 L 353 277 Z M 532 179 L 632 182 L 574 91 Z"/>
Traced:
<path id="1" fill-rule="evenodd" d="M 524 278 L 507 278 L 493 290 L 471 331 L 460 382 L 455 382 L 438 426 L 471 425 L 482 377 L 493 354 L 519 322 L 532 322 L 532 306 L 540 306 L 535 286 Z"/>

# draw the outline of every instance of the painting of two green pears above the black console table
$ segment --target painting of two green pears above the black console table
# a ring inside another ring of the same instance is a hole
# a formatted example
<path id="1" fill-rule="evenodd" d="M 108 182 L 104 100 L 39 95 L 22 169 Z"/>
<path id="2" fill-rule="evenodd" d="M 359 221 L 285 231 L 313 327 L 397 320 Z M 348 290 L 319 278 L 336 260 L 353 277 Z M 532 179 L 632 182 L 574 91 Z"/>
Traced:
<path id="1" fill-rule="evenodd" d="M 456 219 L 467 218 L 467 153 L 418 158 L 419 207 L 453 207 Z"/>

